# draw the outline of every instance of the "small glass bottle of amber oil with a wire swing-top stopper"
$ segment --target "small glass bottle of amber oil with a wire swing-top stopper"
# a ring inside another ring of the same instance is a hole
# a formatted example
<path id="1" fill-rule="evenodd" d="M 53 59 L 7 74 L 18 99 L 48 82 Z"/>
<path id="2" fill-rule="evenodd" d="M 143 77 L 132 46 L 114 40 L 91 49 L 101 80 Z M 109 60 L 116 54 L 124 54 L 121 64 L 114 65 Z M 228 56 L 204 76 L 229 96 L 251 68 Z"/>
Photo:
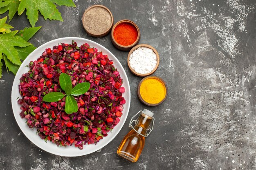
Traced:
<path id="1" fill-rule="evenodd" d="M 137 120 L 133 120 L 135 116 L 139 114 Z M 119 148 L 117 149 L 117 154 L 121 157 L 128 159 L 129 161 L 136 162 L 139 159 L 141 151 L 144 148 L 145 137 L 148 137 L 150 132 L 153 130 L 154 126 L 154 113 L 147 109 L 139 111 L 130 120 L 129 127 L 132 128 L 130 132 L 121 141 Z M 153 120 L 153 123 L 152 123 Z M 135 122 L 135 126 L 132 123 Z M 150 124 L 152 123 L 152 129 Z M 148 130 L 150 130 L 148 132 Z M 147 133 L 148 132 L 148 133 Z"/>

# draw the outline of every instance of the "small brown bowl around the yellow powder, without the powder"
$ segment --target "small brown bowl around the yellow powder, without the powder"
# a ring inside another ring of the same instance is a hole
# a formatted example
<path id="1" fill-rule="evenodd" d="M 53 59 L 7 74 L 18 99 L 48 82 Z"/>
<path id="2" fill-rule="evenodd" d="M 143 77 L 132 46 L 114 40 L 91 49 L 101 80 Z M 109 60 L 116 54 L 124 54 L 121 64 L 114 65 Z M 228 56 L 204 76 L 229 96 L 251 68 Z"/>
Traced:
<path id="1" fill-rule="evenodd" d="M 140 94 L 140 86 L 141 86 L 142 82 L 144 82 L 144 80 L 149 79 L 149 78 L 158 79 L 160 82 L 162 82 L 162 84 L 164 84 L 165 89 L 166 89 L 165 97 L 164 97 L 160 102 L 158 102 L 158 103 L 156 103 L 156 104 L 151 104 L 151 103 L 146 102 L 146 101 L 141 97 L 141 94 Z M 167 85 L 166 85 L 166 83 L 164 82 L 164 80 L 161 79 L 160 77 L 157 77 L 157 76 L 147 76 L 147 77 L 144 77 L 144 78 L 139 82 L 139 86 L 138 86 L 138 89 L 137 89 L 137 95 L 138 95 L 138 97 L 139 97 L 139 100 L 140 100 L 142 103 L 146 104 L 147 106 L 157 106 L 157 105 L 161 104 L 161 103 L 164 102 L 164 100 L 166 99 L 167 94 L 168 94 Z"/>

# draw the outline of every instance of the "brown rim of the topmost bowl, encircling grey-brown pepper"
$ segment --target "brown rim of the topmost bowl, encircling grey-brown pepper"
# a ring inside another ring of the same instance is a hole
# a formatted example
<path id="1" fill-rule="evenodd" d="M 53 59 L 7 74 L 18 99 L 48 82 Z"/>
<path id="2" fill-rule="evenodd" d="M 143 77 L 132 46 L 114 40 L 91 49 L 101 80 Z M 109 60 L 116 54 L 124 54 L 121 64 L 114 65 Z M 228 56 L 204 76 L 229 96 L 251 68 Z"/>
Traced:
<path id="1" fill-rule="evenodd" d="M 91 33 L 90 31 L 88 31 L 88 30 L 85 28 L 85 22 L 84 22 L 84 20 L 85 20 L 85 14 L 86 14 L 88 11 L 90 11 L 90 9 L 95 8 L 95 7 L 101 7 L 101 8 L 103 8 L 103 9 L 106 9 L 106 10 L 110 13 L 110 16 L 111 16 L 111 24 L 110 24 L 110 26 L 108 27 L 108 29 L 107 29 L 105 32 L 99 33 L 99 34 Z M 93 36 L 93 37 L 103 37 L 103 36 L 107 35 L 107 34 L 110 32 L 110 30 L 111 30 L 111 28 L 112 28 L 112 26 L 113 26 L 113 24 L 114 24 L 114 19 L 113 19 L 113 15 L 112 15 L 111 11 L 110 11 L 107 7 L 105 7 L 105 6 L 103 6 L 103 5 L 92 5 L 92 6 L 88 7 L 87 9 L 85 9 L 85 11 L 84 11 L 84 13 L 83 13 L 83 16 L 82 16 L 82 24 L 83 24 L 83 28 L 85 29 L 85 31 L 86 31 L 88 34 L 90 34 L 91 36 Z"/>

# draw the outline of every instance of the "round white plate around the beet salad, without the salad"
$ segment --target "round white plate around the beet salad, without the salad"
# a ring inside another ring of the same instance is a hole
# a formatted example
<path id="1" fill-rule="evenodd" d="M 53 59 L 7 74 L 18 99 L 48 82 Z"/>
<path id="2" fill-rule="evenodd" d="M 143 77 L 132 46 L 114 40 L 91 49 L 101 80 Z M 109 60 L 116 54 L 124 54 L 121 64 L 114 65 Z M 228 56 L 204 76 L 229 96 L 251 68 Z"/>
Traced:
<path id="1" fill-rule="evenodd" d="M 110 60 L 113 60 L 114 66 L 119 71 L 119 73 L 124 81 L 123 86 L 126 89 L 125 93 L 123 94 L 123 97 L 126 99 L 126 104 L 124 104 L 124 110 L 122 112 L 123 115 L 121 117 L 121 121 L 117 124 L 117 126 L 114 127 L 114 129 L 112 130 L 112 133 L 108 132 L 108 136 L 103 137 L 103 139 L 101 139 L 96 145 L 95 144 L 84 145 L 83 150 L 80 150 L 79 148 L 75 148 L 74 146 L 67 146 L 66 148 L 58 147 L 58 146 L 56 146 L 56 144 L 53 144 L 50 141 L 47 141 L 47 143 L 46 143 L 43 139 L 41 139 L 38 135 L 36 135 L 36 129 L 32 130 L 31 128 L 29 128 L 25 123 L 26 119 L 25 118 L 22 119 L 20 117 L 20 115 L 19 115 L 21 112 L 20 105 L 17 103 L 17 101 L 18 101 L 17 97 L 21 98 L 19 90 L 18 90 L 20 77 L 22 76 L 23 73 L 27 73 L 29 71 L 29 68 L 26 67 L 26 65 L 28 65 L 30 61 L 37 60 L 37 58 L 42 55 L 42 53 L 45 51 L 45 49 L 47 49 L 47 48 L 52 49 L 53 46 L 58 45 L 59 43 L 62 43 L 62 42 L 71 44 L 72 40 L 74 40 L 78 46 L 80 46 L 84 43 L 88 43 L 90 46 L 97 48 L 98 51 L 102 51 L 103 54 L 108 55 Z M 39 148 L 41 148 L 47 152 L 50 152 L 52 154 L 66 156 L 66 157 L 76 157 L 76 156 L 81 156 L 81 155 L 87 155 L 87 154 L 90 154 L 92 152 L 95 152 L 95 151 L 103 148 L 117 136 L 118 132 L 124 126 L 124 122 L 126 121 L 126 118 L 127 118 L 128 112 L 129 112 L 130 85 L 128 82 L 128 77 L 127 77 L 121 63 L 117 60 L 115 55 L 113 55 L 110 51 L 108 51 L 108 49 L 106 49 L 102 45 L 100 45 L 96 42 L 93 42 L 91 40 L 84 39 L 84 38 L 75 38 L 75 37 L 59 38 L 59 39 L 47 42 L 47 43 L 41 45 L 40 47 L 38 47 L 21 64 L 21 66 L 16 74 L 16 77 L 13 81 L 13 86 L 12 86 L 12 91 L 11 91 L 11 104 L 12 104 L 14 117 L 15 117 L 18 125 L 20 126 L 21 131 L 25 134 L 25 136 L 31 142 L 33 142 Z M 117 148 L 113 148 L 113 149 L 117 149 Z"/>

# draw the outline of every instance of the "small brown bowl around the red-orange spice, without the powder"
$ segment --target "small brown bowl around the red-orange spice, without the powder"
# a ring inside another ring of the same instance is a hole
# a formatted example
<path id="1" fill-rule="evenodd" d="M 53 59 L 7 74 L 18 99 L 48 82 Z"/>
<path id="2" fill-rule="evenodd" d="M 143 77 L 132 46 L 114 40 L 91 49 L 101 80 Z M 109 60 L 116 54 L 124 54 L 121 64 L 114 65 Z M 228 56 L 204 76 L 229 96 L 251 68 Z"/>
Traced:
<path id="1" fill-rule="evenodd" d="M 138 36 L 137 36 L 137 39 L 134 43 L 128 45 L 128 46 L 124 46 L 124 45 L 121 45 L 119 44 L 115 38 L 114 38 L 114 30 L 115 28 L 117 27 L 117 25 L 121 24 L 121 23 L 129 23 L 129 24 L 132 24 L 133 26 L 135 26 L 135 28 L 137 29 L 137 32 L 138 32 Z M 134 23 L 132 22 L 131 20 L 120 20 L 118 21 L 113 27 L 112 27 L 112 31 L 111 31 L 111 41 L 112 43 L 114 44 L 115 47 L 117 47 L 117 49 L 119 50 L 123 50 L 123 51 L 128 51 L 130 49 L 132 49 L 132 47 L 134 47 L 135 45 L 137 45 L 139 43 L 139 39 L 140 39 L 140 31 L 139 31 L 139 27 Z"/>

